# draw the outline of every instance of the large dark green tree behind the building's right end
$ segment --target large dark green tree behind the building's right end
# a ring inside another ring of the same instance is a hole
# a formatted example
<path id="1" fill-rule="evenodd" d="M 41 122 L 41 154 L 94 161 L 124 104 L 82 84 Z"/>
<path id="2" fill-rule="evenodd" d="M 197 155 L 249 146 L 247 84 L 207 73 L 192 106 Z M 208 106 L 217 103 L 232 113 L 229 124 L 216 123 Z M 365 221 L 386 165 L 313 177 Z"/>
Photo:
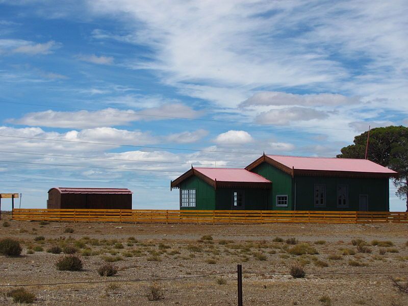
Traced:
<path id="1" fill-rule="evenodd" d="M 338 158 L 365 158 L 368 132 L 354 137 L 354 144 L 341 149 Z M 376 127 L 370 131 L 367 158 L 398 172 L 394 179 L 395 193 L 406 200 L 408 211 L 408 128 L 405 126 Z"/>

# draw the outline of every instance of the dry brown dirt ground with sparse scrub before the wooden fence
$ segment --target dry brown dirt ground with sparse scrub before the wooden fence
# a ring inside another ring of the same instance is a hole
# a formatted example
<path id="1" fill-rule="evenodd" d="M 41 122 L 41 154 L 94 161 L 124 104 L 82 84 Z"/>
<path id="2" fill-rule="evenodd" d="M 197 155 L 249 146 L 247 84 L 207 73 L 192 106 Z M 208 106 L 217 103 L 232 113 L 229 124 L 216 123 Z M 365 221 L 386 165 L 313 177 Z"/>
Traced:
<path id="1" fill-rule="evenodd" d="M 2 215 L 0 239 L 17 239 L 23 251 L 16 258 L 0 256 L 0 285 L 83 282 L 25 287 L 36 295 L 37 305 L 236 305 L 237 264 L 244 272 L 244 305 L 408 305 L 408 294 L 390 279 L 404 283 L 408 278 L 408 224 L 41 225 L 9 218 Z M 201 239 L 204 235 L 211 237 Z M 284 242 L 274 242 L 275 237 Z M 311 254 L 293 254 L 296 245 L 285 242 L 292 237 Z M 355 239 L 367 245 L 359 248 L 352 244 Z M 83 270 L 59 271 L 55 262 L 65 255 L 46 251 L 56 245 L 76 247 Z M 117 260 L 118 273 L 99 276 L 97 268 L 109 260 Z M 304 278 L 289 275 L 295 263 L 303 266 Z M 224 272 L 155 284 L 123 282 Z M 151 286 L 161 290 L 161 299 L 148 299 Z M 14 304 L 7 297 L 11 289 L 0 287 L 0 304 Z"/>

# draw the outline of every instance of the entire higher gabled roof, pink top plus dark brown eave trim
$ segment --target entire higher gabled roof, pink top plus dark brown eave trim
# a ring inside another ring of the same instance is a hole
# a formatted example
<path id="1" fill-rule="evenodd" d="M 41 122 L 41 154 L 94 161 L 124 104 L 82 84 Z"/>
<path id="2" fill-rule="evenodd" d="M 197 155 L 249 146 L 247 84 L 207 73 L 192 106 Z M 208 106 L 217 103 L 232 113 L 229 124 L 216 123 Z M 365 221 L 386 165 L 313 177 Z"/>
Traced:
<path id="1" fill-rule="evenodd" d="M 290 175 L 329 175 L 360 177 L 391 177 L 398 173 L 364 159 L 298 157 L 282 155 L 263 155 L 245 169 L 252 170 L 266 162 Z"/>

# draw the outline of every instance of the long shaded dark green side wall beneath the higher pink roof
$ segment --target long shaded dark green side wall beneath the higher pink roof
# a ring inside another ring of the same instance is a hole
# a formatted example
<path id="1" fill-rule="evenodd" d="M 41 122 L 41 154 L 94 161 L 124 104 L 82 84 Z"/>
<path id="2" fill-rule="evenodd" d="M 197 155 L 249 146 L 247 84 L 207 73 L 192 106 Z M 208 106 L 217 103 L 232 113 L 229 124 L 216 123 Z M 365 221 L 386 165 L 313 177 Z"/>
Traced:
<path id="1" fill-rule="evenodd" d="M 314 207 L 314 184 L 325 184 L 326 207 Z M 388 179 L 295 176 L 296 210 L 358 211 L 359 195 L 368 195 L 369 211 L 389 211 Z M 337 185 L 348 185 L 348 208 L 337 208 Z"/>

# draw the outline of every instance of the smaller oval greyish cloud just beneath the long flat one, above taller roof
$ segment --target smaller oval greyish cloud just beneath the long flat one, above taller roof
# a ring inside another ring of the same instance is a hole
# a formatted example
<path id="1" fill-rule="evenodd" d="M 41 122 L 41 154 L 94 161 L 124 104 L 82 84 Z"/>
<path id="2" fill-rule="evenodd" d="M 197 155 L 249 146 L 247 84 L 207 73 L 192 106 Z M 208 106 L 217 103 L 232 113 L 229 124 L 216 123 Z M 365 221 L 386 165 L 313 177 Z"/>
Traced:
<path id="1" fill-rule="evenodd" d="M 327 117 L 328 114 L 324 111 L 312 108 L 289 107 L 262 112 L 255 118 L 255 121 L 263 124 L 287 124 L 294 121 L 325 119 Z"/>

